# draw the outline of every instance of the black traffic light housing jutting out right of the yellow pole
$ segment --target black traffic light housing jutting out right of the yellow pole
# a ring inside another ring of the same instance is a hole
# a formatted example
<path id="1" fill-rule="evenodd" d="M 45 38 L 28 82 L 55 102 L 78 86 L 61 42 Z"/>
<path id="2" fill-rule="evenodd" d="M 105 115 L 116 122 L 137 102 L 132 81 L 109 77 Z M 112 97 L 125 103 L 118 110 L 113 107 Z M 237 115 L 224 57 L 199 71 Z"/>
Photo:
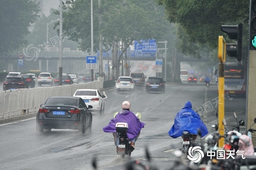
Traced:
<path id="1" fill-rule="evenodd" d="M 226 33 L 231 40 L 236 40 L 236 43 L 226 44 L 227 55 L 230 57 L 236 57 L 237 61 L 241 61 L 243 24 L 240 23 L 237 26 L 221 26 L 221 31 Z"/>

